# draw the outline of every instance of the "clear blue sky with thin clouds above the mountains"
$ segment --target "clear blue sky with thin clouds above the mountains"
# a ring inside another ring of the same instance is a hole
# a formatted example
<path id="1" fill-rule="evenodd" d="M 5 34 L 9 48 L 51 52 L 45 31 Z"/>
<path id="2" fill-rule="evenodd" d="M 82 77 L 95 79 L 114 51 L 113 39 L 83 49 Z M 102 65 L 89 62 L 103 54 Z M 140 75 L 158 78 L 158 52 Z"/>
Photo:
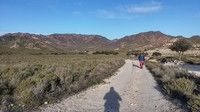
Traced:
<path id="1" fill-rule="evenodd" d="M 0 34 L 200 35 L 200 0 L 0 0 Z"/>

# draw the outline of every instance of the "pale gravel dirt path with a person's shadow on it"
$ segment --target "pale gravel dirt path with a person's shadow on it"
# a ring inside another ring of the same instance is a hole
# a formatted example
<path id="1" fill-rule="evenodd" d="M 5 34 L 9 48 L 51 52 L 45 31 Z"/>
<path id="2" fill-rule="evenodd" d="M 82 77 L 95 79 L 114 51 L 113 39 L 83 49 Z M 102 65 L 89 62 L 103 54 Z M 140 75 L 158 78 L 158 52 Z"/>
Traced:
<path id="1" fill-rule="evenodd" d="M 156 89 L 149 71 L 139 69 L 138 62 L 126 60 L 116 75 L 88 90 L 56 104 L 40 108 L 43 112 L 180 112 Z M 121 101 L 120 101 L 121 100 Z M 107 112 L 107 111 L 106 111 Z"/>

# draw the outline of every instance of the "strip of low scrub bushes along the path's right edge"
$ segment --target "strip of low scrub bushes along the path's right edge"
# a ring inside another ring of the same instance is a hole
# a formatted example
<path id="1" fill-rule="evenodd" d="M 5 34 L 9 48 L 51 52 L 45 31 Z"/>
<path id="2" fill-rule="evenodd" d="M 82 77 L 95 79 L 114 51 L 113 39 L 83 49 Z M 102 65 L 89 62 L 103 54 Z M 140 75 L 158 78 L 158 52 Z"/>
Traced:
<path id="1" fill-rule="evenodd" d="M 147 62 L 147 68 L 161 86 L 163 92 L 187 104 L 193 112 L 200 110 L 200 78 L 187 70 Z"/>

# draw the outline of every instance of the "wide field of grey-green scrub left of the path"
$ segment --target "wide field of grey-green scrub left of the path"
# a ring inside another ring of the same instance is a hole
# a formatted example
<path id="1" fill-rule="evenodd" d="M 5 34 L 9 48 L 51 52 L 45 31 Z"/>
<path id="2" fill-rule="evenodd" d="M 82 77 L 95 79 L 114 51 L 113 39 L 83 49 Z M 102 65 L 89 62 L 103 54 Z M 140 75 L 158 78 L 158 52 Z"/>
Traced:
<path id="1" fill-rule="evenodd" d="M 118 55 L 0 55 L 0 107 L 51 103 L 102 82 L 123 64 Z"/>

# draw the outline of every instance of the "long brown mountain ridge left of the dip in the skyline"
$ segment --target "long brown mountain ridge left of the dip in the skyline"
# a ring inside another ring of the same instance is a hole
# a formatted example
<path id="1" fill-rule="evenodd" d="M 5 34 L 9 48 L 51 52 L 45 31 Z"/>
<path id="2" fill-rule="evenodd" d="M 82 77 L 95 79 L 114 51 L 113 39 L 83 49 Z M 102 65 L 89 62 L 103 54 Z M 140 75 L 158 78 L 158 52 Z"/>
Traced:
<path id="1" fill-rule="evenodd" d="M 99 35 L 9 33 L 0 36 L 0 46 L 10 49 L 49 51 L 96 50 L 107 47 L 111 41 Z"/>

